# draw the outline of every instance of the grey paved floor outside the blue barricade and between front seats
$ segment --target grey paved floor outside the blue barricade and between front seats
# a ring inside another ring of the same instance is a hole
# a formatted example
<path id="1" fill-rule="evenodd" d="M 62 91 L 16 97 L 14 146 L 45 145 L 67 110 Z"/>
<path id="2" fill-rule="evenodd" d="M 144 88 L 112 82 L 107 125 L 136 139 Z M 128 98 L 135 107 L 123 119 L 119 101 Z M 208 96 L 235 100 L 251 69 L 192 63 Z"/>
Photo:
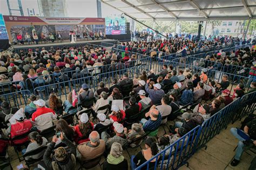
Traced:
<path id="1" fill-rule="evenodd" d="M 248 167 L 251 164 L 252 159 L 255 157 L 255 153 L 248 151 L 244 152 L 241 157 L 241 161 L 238 164 L 237 167 L 232 167 L 230 165 L 230 162 L 233 160 L 234 157 L 234 148 L 237 146 L 238 140 L 233 137 L 233 135 L 230 133 L 231 127 L 240 127 L 241 123 L 240 121 L 236 121 L 233 125 L 228 125 L 227 130 L 223 130 L 220 132 L 220 134 L 216 135 L 212 140 L 210 140 L 207 143 L 207 149 L 205 148 L 200 149 L 196 154 L 192 156 L 188 160 L 189 166 L 186 165 L 180 167 L 179 169 L 182 170 L 188 170 L 188 169 L 248 169 Z M 164 130 L 163 128 L 160 128 L 158 132 L 158 136 L 163 135 Z M 141 145 L 143 148 L 145 148 L 145 145 Z M 140 148 L 129 148 L 127 151 L 124 151 L 124 157 L 128 160 L 130 165 L 130 157 L 127 152 L 129 152 L 130 155 L 136 154 L 140 151 Z M 19 162 L 17 159 L 17 155 L 14 152 L 14 149 L 12 147 L 9 147 L 9 155 L 11 158 L 11 165 L 13 168 L 16 169 L 17 165 L 19 164 L 25 164 L 24 161 Z M 102 157 L 102 161 L 104 162 L 104 158 Z M 36 167 L 37 165 L 33 166 Z M 79 168 L 79 164 L 75 169 Z M 94 168 L 98 170 L 100 169 L 99 166 L 96 166 Z"/>

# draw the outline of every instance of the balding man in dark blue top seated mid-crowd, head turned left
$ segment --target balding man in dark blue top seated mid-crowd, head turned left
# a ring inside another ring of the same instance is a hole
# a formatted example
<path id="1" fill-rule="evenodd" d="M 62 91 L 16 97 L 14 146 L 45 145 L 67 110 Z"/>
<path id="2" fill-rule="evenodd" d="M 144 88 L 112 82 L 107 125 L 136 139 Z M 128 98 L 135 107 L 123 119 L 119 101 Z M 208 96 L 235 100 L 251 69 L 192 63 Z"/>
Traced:
<path id="1" fill-rule="evenodd" d="M 150 117 L 149 120 L 141 120 L 143 130 L 145 132 L 157 130 L 157 128 L 161 125 L 161 114 L 159 114 L 159 111 L 156 110 L 156 108 L 151 108 L 151 110 L 145 114 L 145 117 Z"/>

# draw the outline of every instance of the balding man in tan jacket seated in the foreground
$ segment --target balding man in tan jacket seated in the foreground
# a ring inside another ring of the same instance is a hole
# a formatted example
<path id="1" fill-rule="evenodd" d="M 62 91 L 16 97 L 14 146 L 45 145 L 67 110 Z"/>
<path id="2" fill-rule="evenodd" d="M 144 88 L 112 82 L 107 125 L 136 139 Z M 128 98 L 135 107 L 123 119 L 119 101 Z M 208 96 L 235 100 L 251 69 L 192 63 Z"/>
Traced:
<path id="1" fill-rule="evenodd" d="M 90 141 L 83 142 L 77 146 L 79 153 L 77 158 L 85 161 L 99 157 L 105 151 L 105 141 L 100 139 L 97 131 L 92 131 L 89 135 Z"/>

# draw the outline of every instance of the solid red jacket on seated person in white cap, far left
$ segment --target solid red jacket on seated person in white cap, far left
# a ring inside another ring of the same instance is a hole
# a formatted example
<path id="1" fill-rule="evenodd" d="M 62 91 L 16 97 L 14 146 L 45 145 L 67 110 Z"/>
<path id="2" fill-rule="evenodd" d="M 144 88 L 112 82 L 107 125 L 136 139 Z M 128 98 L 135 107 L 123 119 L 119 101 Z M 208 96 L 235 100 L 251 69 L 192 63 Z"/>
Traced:
<path id="1" fill-rule="evenodd" d="M 11 125 L 11 138 L 27 133 L 31 130 L 31 128 L 32 128 L 32 123 L 30 120 L 17 122 L 16 124 Z M 28 141 L 28 137 L 25 137 L 24 139 L 15 140 L 14 144 L 22 144 L 26 141 Z"/>

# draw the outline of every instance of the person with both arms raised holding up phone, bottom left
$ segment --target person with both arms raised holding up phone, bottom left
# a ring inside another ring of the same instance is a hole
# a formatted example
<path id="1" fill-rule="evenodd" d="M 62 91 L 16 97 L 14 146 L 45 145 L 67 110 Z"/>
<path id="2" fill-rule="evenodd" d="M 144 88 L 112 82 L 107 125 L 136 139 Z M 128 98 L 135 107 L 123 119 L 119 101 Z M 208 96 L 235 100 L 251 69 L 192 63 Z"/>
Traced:
<path id="1" fill-rule="evenodd" d="M 53 136 L 52 142 L 48 145 L 44 153 L 44 164 L 47 169 L 74 169 L 76 167 L 76 146 L 68 139 L 64 138 L 60 132 L 60 139 L 69 147 L 69 152 L 66 152 L 64 147 L 58 147 L 51 157 L 53 148 L 57 142 L 57 136 Z"/>

